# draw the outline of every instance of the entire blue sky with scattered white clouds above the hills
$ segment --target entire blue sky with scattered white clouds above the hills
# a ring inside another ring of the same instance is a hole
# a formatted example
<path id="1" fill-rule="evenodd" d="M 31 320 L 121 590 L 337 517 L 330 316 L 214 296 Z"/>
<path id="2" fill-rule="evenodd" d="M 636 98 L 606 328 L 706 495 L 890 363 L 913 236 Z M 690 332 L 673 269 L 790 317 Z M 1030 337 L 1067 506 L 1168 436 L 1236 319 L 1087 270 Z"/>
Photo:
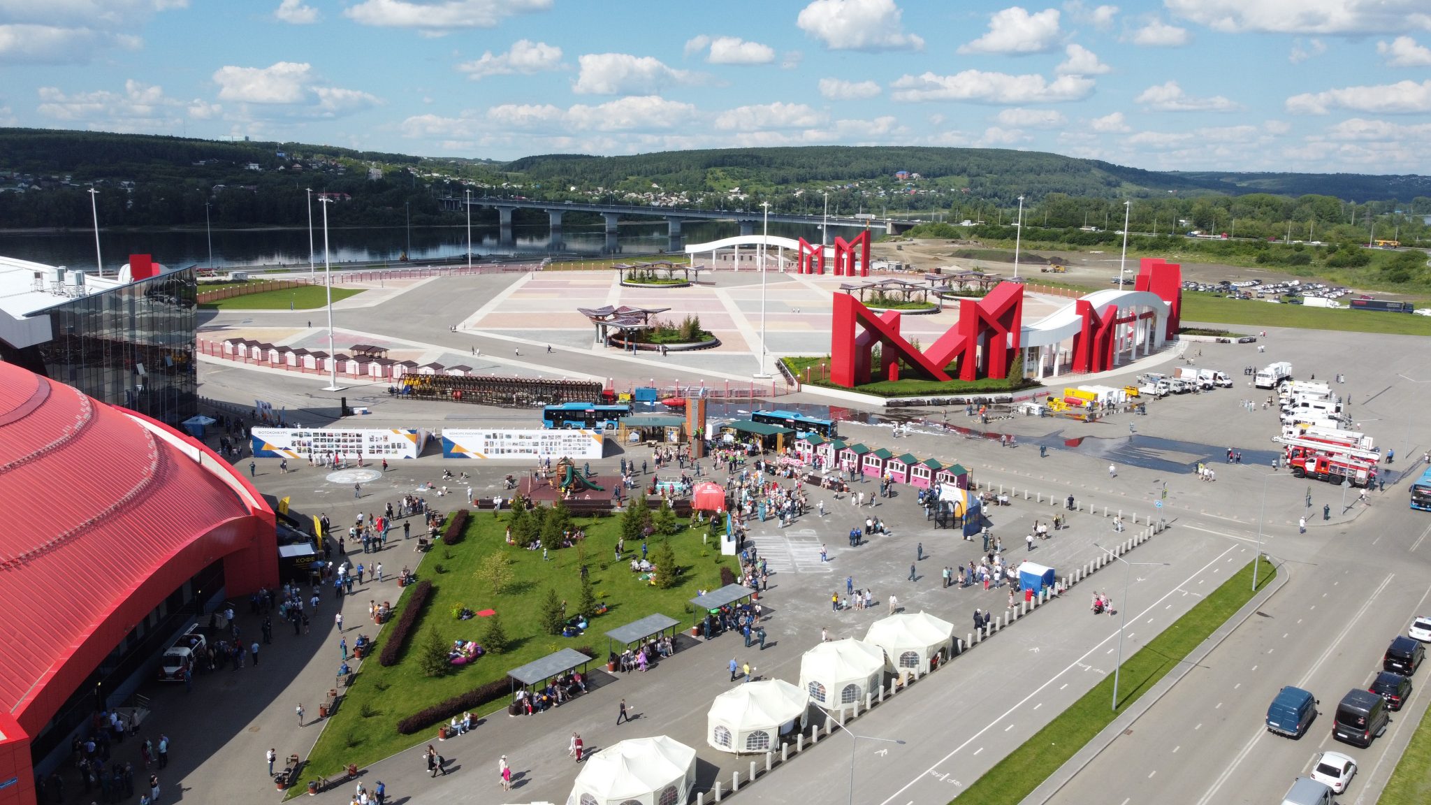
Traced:
<path id="1" fill-rule="evenodd" d="M 0 0 L 0 125 L 1427 173 L 1431 0 Z"/>

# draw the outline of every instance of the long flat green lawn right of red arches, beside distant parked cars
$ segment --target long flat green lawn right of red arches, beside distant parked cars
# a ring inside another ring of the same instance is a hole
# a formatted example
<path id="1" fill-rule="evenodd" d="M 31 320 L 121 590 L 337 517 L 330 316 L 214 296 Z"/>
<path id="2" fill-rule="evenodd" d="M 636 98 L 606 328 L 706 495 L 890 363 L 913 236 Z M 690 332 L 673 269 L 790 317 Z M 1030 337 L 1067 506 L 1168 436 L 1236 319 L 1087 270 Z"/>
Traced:
<path id="1" fill-rule="evenodd" d="M 1431 317 L 1274 305 L 1262 299 L 1228 299 L 1211 294 L 1182 295 L 1182 321 L 1239 324 L 1244 327 L 1301 327 L 1347 332 L 1385 332 L 1391 335 L 1431 335 Z"/>

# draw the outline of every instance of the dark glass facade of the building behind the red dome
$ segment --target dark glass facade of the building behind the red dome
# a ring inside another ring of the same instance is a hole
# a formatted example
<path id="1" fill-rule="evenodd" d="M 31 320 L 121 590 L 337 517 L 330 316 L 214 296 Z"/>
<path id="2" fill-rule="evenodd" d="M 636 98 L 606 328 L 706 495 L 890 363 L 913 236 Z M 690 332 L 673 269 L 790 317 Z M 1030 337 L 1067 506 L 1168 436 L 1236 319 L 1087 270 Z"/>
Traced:
<path id="1" fill-rule="evenodd" d="M 109 403 L 170 425 L 199 413 L 195 332 L 197 285 L 192 268 L 169 271 L 43 314 L 50 341 L 16 361 Z"/>

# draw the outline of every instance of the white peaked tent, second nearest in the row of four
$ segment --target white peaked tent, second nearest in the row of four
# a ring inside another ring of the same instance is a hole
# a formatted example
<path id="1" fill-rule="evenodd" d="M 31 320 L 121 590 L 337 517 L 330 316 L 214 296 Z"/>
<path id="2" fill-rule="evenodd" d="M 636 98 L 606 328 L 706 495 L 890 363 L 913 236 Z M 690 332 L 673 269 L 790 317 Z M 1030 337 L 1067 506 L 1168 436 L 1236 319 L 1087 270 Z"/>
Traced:
<path id="1" fill-rule="evenodd" d="M 784 679 L 737 685 L 711 702 L 705 713 L 705 742 L 737 755 L 766 752 L 776 745 L 777 736 L 804 729 L 809 708 L 804 690 Z"/>

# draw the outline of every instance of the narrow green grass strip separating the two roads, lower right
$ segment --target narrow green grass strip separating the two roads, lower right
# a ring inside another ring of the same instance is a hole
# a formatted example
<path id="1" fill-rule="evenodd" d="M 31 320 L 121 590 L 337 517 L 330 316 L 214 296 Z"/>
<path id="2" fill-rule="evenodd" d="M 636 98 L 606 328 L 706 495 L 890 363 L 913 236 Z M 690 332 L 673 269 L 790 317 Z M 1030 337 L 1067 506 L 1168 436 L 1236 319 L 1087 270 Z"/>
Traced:
<path id="1" fill-rule="evenodd" d="M 1262 569 L 1258 572 L 1258 586 L 1265 587 L 1275 576 L 1276 569 L 1264 559 Z M 1249 561 L 1152 642 L 1125 659 L 1118 686 L 1119 712 L 1156 685 L 1209 635 L 1242 609 L 1242 604 L 1248 603 L 1251 597 L 1252 563 Z M 970 802 L 982 805 L 1017 804 L 1118 716 L 1109 708 L 1112 700 L 1113 675 L 1110 673 L 1047 726 L 1036 732 L 1033 738 L 1025 741 L 1013 753 L 985 772 L 954 802 L 959 805 Z M 1421 766 L 1420 772 L 1425 776 L 1425 766 Z M 1417 802 L 1417 799 L 1394 799 L 1392 802 Z"/>

